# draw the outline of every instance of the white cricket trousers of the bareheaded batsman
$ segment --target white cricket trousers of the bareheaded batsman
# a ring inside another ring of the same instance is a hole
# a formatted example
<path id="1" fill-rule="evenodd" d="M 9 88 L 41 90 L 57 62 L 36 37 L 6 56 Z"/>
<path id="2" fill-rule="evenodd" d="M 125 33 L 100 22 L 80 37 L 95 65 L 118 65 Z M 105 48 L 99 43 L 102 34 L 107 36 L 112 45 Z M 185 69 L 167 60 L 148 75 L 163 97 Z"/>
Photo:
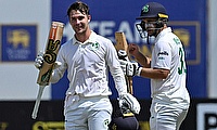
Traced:
<path id="1" fill-rule="evenodd" d="M 69 95 L 65 100 L 65 130 L 107 130 L 112 104 L 107 96 Z"/>

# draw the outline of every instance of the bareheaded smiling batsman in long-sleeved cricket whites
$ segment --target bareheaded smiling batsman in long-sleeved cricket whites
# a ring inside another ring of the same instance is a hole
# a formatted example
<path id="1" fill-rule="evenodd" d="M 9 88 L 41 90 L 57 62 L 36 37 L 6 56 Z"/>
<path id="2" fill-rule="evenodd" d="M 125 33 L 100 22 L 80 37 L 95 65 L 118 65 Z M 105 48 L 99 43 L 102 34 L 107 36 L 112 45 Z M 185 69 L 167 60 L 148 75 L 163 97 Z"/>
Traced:
<path id="1" fill-rule="evenodd" d="M 75 32 L 61 46 L 58 62 L 52 70 L 51 82 L 58 82 L 67 70 L 69 80 L 65 94 L 65 130 L 107 130 L 112 115 L 108 95 L 108 70 L 122 102 L 133 114 L 139 114 L 140 104 L 127 92 L 124 73 L 117 52 L 111 40 L 90 29 L 89 6 L 80 1 L 67 10 L 69 24 Z M 37 60 L 41 64 L 41 60 Z"/>

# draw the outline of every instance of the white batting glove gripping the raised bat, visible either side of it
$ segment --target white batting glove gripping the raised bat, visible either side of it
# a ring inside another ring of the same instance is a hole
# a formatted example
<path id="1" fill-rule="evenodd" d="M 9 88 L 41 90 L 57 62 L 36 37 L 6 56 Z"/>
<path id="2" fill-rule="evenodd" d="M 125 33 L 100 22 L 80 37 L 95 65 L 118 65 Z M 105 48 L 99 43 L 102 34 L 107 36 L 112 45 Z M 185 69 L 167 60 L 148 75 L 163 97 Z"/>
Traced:
<path id="1" fill-rule="evenodd" d="M 42 67 L 42 64 L 43 64 L 43 53 L 39 52 L 35 60 L 34 65 L 36 68 L 40 69 Z M 56 61 L 53 65 L 53 69 L 59 68 L 61 65 L 62 65 L 62 63 Z"/>

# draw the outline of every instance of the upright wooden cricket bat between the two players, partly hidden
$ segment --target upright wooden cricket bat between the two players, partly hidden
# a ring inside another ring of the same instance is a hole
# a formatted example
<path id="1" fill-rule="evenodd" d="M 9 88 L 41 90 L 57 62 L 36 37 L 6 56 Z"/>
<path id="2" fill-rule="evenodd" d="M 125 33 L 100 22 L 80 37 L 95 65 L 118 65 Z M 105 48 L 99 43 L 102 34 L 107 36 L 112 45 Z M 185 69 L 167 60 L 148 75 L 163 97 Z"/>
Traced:
<path id="1" fill-rule="evenodd" d="M 117 50 L 118 57 L 120 60 L 128 60 L 129 61 L 128 43 L 127 43 L 125 34 L 120 32 L 120 31 L 116 31 L 115 32 L 115 40 L 116 40 L 115 49 Z M 124 57 L 126 55 L 127 55 L 127 57 Z M 133 94 L 133 91 L 132 91 L 132 77 L 125 76 L 125 78 L 126 78 L 126 81 L 127 81 L 127 90 L 128 90 L 128 92 L 130 94 Z"/>

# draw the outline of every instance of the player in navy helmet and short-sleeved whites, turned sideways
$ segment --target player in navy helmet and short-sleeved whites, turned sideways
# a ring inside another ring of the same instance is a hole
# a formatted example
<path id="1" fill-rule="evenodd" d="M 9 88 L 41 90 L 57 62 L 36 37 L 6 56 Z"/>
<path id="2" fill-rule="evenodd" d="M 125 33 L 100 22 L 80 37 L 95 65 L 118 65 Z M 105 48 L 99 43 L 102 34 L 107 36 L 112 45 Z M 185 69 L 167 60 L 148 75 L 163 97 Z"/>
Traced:
<path id="1" fill-rule="evenodd" d="M 151 79 L 151 130 L 178 130 L 190 105 L 182 43 L 167 27 L 168 15 L 162 4 L 146 3 L 137 20 L 141 20 L 137 28 L 142 38 L 149 41 L 150 36 L 155 37 L 152 58 L 144 56 L 138 46 L 130 44 L 129 53 L 142 67 L 120 61 L 123 70 L 128 76 Z"/>

